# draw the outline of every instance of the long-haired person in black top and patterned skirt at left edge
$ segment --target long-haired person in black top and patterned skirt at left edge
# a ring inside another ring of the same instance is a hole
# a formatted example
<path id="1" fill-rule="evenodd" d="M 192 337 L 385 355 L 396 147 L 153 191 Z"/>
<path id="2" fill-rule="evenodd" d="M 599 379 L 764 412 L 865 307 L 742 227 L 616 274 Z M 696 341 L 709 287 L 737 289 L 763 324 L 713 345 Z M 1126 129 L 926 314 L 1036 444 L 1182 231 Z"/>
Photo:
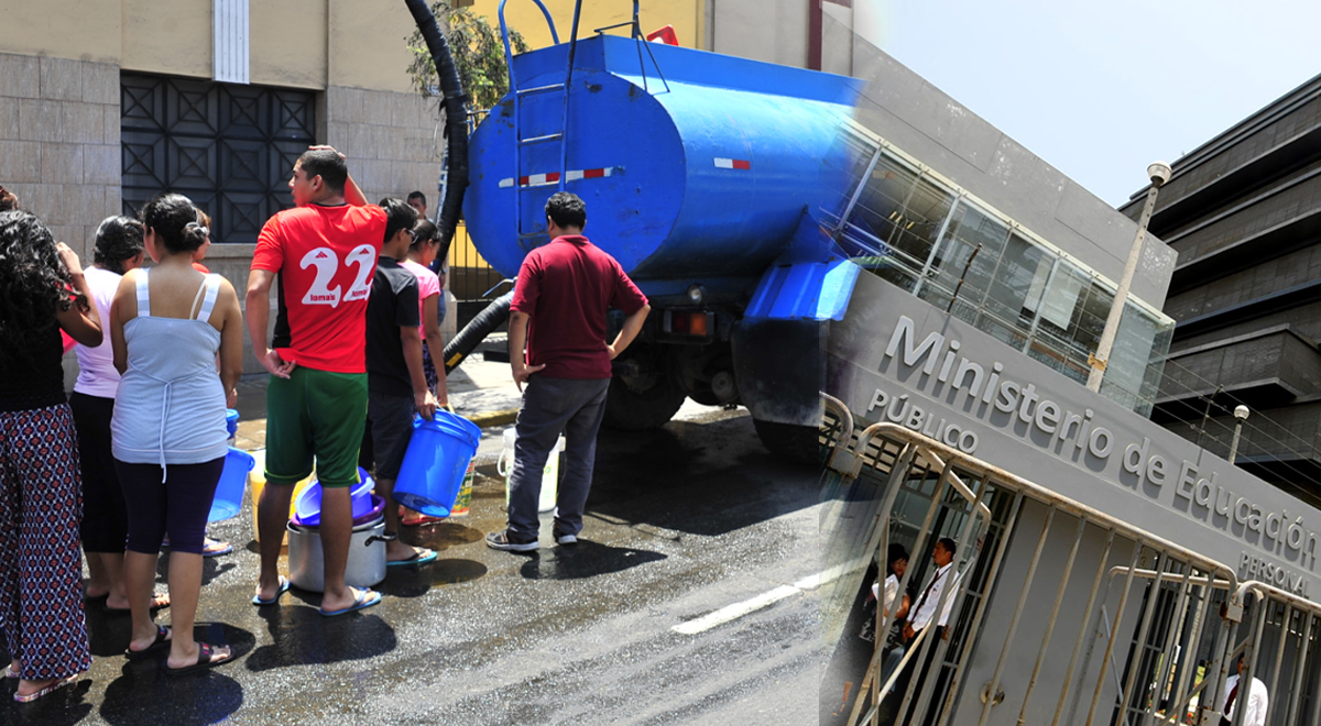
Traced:
<path id="1" fill-rule="evenodd" d="M 78 436 L 59 331 L 102 341 L 78 255 L 34 215 L 0 213 L 0 632 L 26 702 L 91 667 Z"/>

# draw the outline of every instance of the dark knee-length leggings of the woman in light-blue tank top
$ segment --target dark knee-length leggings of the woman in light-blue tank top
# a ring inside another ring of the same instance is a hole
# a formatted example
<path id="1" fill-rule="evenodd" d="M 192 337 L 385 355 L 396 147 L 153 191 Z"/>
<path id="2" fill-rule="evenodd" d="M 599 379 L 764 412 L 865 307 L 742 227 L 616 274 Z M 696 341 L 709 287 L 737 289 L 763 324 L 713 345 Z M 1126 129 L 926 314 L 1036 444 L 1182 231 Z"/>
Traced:
<path id="1" fill-rule="evenodd" d="M 202 553 L 206 515 L 225 457 L 202 463 L 115 462 L 128 503 L 128 550 L 156 554 L 169 532 L 172 552 Z"/>

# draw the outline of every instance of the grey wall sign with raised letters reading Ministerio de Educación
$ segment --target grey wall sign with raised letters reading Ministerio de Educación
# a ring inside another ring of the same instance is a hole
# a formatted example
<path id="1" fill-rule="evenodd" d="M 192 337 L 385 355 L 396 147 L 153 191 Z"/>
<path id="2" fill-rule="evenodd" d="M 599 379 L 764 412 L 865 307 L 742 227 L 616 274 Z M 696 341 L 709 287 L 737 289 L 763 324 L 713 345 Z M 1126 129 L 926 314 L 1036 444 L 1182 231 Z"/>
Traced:
<path id="1" fill-rule="evenodd" d="M 971 325 L 863 275 L 826 391 L 1309 599 L 1321 511 Z"/>

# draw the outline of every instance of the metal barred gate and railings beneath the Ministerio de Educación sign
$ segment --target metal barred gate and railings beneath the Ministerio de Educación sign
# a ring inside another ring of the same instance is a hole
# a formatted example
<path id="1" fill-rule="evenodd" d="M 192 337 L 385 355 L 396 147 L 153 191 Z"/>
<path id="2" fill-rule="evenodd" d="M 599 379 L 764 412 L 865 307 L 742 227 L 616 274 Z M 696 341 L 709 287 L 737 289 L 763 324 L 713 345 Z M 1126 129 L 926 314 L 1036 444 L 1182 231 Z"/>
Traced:
<path id="1" fill-rule="evenodd" d="M 890 541 L 913 553 L 900 591 L 919 582 L 914 570 L 935 537 L 959 545 L 959 578 L 935 609 L 954 598 L 947 638 L 926 638 L 935 630 L 926 628 L 882 678 L 898 598 L 892 611 L 878 609 L 877 648 L 848 723 L 1217 725 L 1242 655 L 1243 681 L 1259 678 L 1269 693 L 1266 723 L 1321 726 L 1316 603 L 1239 582 L 1234 568 L 1118 512 L 910 429 L 855 432 L 847 408 L 823 399 L 822 533 L 834 565 L 822 587 L 827 644 L 839 640 L 868 564 L 881 556 L 884 568 Z M 905 672 L 910 686 L 897 692 Z M 1235 709 L 1235 726 L 1247 710 Z"/>

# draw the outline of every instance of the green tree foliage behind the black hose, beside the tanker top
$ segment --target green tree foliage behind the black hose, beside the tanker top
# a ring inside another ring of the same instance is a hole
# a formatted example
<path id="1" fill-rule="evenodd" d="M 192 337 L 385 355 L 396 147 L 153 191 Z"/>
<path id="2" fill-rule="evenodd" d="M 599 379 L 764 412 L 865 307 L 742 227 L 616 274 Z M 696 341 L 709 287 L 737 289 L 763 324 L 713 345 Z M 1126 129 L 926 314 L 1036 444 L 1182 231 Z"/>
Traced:
<path id="1" fill-rule="evenodd" d="M 509 70 L 505 67 L 505 44 L 501 41 L 499 28 L 491 25 L 485 16 L 476 16 L 468 8 L 452 8 L 444 1 L 432 3 L 431 12 L 436 13 L 441 28 L 448 28 L 445 38 L 454 54 L 454 66 L 464 83 L 464 92 L 470 99 L 469 106 L 486 110 L 499 103 L 509 92 Z M 527 51 L 527 42 L 518 30 L 510 29 L 509 41 L 515 54 Z M 412 63 L 408 65 L 413 90 L 424 96 L 436 95 L 440 81 L 420 30 L 413 30 L 408 37 L 408 50 L 413 54 Z"/>

